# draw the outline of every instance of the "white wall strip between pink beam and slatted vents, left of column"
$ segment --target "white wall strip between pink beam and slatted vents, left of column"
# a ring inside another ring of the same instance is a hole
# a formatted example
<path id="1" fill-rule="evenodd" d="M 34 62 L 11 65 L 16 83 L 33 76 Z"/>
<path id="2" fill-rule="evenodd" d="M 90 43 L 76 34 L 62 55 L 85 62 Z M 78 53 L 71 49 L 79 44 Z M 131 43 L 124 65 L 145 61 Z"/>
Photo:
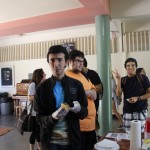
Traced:
<path id="1" fill-rule="evenodd" d="M 60 28 L 35 33 L 16 35 L 11 37 L 0 38 L 0 46 L 18 45 L 25 43 L 34 43 L 40 41 L 58 40 L 72 37 L 83 37 L 95 35 L 95 25 L 80 25 L 75 27 Z"/>

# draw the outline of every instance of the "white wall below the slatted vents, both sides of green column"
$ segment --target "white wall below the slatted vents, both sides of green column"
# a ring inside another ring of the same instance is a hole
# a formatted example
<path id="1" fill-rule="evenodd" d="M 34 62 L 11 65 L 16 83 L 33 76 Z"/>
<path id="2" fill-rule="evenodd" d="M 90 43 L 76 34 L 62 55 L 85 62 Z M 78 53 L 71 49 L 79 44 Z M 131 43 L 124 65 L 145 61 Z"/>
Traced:
<path id="1" fill-rule="evenodd" d="M 114 53 L 111 54 L 112 70 L 117 69 L 121 76 L 126 75 L 124 69 L 124 62 L 126 58 L 133 57 L 137 59 L 138 66 L 143 67 L 146 70 L 147 76 L 150 79 L 150 68 L 149 68 L 149 56 L 150 52 L 134 52 L 134 53 Z M 88 61 L 88 67 L 93 70 L 97 70 L 97 57 L 96 55 L 86 55 Z M 20 83 L 22 79 L 28 78 L 28 73 L 32 73 L 37 68 L 43 68 L 46 73 L 46 77 L 51 76 L 51 71 L 46 59 L 34 59 L 34 60 L 23 60 L 23 61 L 12 61 L 12 62 L 1 62 L 0 67 L 14 66 L 15 69 L 15 85 Z M 0 92 L 8 92 L 9 95 L 16 94 L 16 86 L 13 88 L 2 88 Z M 150 105 L 150 104 L 149 104 Z M 123 103 L 119 107 L 119 112 L 122 113 Z M 150 114 L 150 112 L 149 112 Z"/>

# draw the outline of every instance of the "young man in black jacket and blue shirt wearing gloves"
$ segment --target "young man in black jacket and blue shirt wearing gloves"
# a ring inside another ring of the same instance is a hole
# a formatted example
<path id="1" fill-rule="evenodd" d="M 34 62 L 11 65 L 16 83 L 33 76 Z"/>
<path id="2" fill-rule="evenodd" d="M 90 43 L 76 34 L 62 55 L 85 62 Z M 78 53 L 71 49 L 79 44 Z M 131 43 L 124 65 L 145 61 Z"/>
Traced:
<path id="1" fill-rule="evenodd" d="M 47 61 L 52 77 L 41 83 L 34 108 L 40 124 L 42 150 L 79 150 L 79 119 L 87 116 L 87 98 L 81 82 L 65 75 L 68 53 L 61 45 L 50 47 Z M 62 109 L 62 103 L 69 108 Z"/>

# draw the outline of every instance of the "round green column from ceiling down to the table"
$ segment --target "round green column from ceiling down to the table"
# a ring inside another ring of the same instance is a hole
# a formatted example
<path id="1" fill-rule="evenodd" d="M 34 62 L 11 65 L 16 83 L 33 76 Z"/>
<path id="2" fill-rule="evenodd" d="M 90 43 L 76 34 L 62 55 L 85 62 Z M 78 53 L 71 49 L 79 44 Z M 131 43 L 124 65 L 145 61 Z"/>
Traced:
<path id="1" fill-rule="evenodd" d="M 112 96 L 111 96 L 111 53 L 110 20 L 108 15 L 98 15 L 96 21 L 97 71 L 104 86 L 98 119 L 100 136 L 112 130 Z"/>

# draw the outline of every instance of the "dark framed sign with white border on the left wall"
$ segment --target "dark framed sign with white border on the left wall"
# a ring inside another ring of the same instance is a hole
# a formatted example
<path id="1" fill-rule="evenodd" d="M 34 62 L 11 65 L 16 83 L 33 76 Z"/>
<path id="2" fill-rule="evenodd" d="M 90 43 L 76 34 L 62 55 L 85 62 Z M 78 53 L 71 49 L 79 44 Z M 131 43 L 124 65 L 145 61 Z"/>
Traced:
<path id="1" fill-rule="evenodd" d="M 14 66 L 0 67 L 0 86 L 14 87 Z"/>

